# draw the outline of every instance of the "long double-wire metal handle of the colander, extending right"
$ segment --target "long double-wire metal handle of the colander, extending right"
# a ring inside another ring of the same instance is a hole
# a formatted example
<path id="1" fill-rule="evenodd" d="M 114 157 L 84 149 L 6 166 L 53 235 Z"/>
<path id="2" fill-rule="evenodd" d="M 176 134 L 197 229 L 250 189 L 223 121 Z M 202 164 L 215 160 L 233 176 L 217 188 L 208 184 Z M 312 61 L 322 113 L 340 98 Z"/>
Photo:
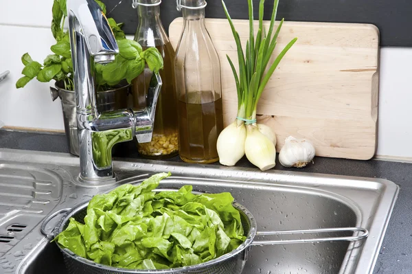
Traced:
<path id="1" fill-rule="evenodd" d="M 330 233 L 330 232 L 362 232 L 358 236 L 344 237 L 326 237 L 312 239 L 297 239 L 297 240 L 253 240 L 251 245 L 271 245 L 271 244 L 299 244 L 303 242 L 334 242 L 334 241 L 349 241 L 354 242 L 363 240 L 369 236 L 369 231 L 363 227 L 334 227 L 325 229 L 308 229 L 308 230 L 285 230 L 285 231 L 258 231 L 256 236 L 273 236 L 273 235 L 295 235 L 308 233 Z"/>

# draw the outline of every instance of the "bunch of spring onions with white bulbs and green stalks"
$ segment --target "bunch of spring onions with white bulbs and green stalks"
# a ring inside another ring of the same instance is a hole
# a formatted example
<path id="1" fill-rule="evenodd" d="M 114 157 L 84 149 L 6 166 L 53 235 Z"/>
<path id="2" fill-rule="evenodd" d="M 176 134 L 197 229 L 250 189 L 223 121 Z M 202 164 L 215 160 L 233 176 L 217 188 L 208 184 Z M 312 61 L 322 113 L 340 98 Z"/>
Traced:
<path id="1" fill-rule="evenodd" d="M 229 15 L 225 1 L 222 1 L 225 14 L 236 41 L 238 52 L 238 72 L 229 56 L 227 60 L 233 71 L 238 93 L 238 115 L 236 120 L 227 126 L 218 137 L 218 155 L 222 165 L 236 165 L 246 154 L 247 159 L 261 170 L 275 166 L 276 137 L 271 128 L 257 124 L 256 109 L 266 84 L 275 72 L 277 65 L 286 52 L 295 44 L 297 38 L 286 45 L 280 54 L 271 62 L 271 57 L 277 45 L 277 36 L 284 23 L 279 22 L 275 30 L 275 18 L 279 0 L 273 4 L 271 23 L 266 32 L 263 24 L 264 0 L 259 3 L 259 27 L 255 36 L 253 19 L 253 2 L 247 0 L 249 6 L 249 39 L 243 50 L 240 36 Z"/>

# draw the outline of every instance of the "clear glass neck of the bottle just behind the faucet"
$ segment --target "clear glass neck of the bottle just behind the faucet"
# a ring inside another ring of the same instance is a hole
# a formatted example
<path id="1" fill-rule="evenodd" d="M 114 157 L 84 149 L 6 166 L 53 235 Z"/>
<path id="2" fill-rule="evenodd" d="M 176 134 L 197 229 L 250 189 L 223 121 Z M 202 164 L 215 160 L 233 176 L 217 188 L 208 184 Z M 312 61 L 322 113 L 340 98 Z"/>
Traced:
<path id="1" fill-rule="evenodd" d="M 160 5 L 138 5 L 139 25 L 135 41 L 142 47 L 157 47 L 169 42 L 160 19 Z"/>

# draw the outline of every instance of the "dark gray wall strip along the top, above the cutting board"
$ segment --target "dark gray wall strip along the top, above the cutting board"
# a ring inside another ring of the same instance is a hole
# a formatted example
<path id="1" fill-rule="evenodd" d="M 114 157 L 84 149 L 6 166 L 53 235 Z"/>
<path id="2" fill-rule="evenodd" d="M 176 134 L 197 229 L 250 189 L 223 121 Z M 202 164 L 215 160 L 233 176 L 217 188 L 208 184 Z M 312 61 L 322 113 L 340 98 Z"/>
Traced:
<path id="1" fill-rule="evenodd" d="M 120 4 L 120 0 L 103 1 L 107 5 L 108 16 L 124 22 L 124 31 L 134 34 L 137 12 L 131 7 L 132 1 L 123 0 Z M 233 19 L 248 18 L 247 0 L 225 2 Z M 259 0 L 253 2 L 257 7 Z M 220 0 L 207 3 L 207 17 L 225 18 Z M 270 19 L 272 8 L 273 0 L 266 0 L 265 19 Z M 177 16 L 180 13 L 176 11 L 176 1 L 163 0 L 161 17 L 166 30 Z M 381 45 L 412 46 L 412 0 L 280 0 L 277 19 L 282 17 L 286 21 L 371 23 L 380 30 Z"/>

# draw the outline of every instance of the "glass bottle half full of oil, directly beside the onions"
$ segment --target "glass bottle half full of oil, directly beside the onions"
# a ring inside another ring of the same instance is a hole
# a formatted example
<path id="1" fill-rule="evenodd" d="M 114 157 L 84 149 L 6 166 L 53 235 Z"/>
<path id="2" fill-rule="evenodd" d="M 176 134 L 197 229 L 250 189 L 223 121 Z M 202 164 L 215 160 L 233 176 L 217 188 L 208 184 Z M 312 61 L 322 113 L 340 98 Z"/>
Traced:
<path id="1" fill-rule="evenodd" d="M 205 0 L 182 0 L 183 33 L 174 69 L 178 92 L 179 155 L 185 162 L 218 161 L 223 129 L 220 61 L 205 27 Z"/>

